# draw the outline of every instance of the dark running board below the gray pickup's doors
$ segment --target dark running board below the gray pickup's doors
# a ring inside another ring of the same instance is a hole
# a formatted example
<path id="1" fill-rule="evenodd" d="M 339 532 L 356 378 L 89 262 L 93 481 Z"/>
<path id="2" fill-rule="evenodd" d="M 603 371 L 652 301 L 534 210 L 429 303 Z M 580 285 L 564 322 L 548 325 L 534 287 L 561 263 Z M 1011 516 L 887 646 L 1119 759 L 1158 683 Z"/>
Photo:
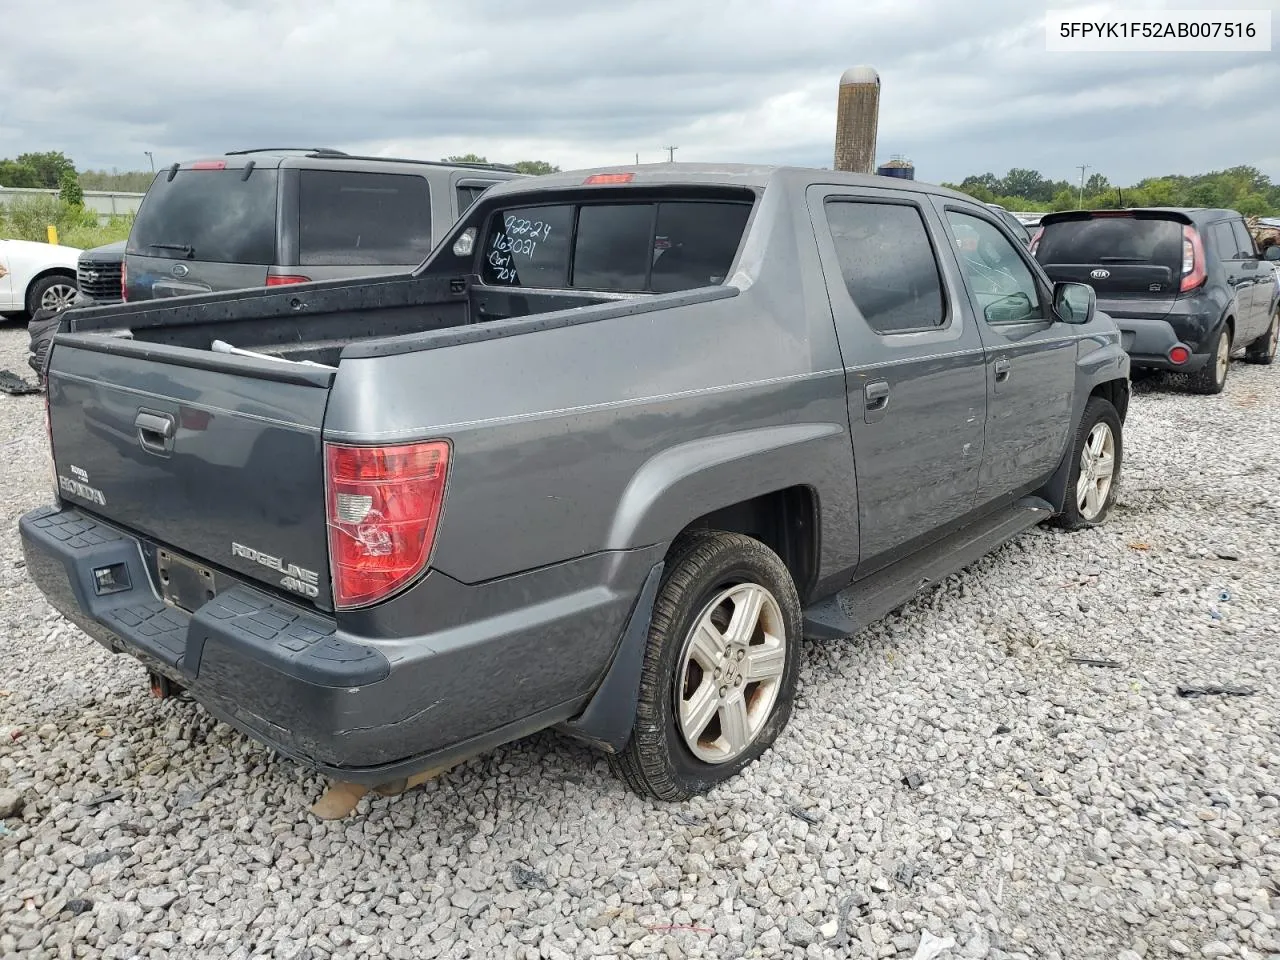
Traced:
<path id="1" fill-rule="evenodd" d="M 852 636 L 922 590 L 964 570 L 1051 516 L 1053 508 L 1047 500 L 1024 497 L 1011 507 L 961 527 L 938 543 L 805 608 L 804 635 L 810 640 Z"/>

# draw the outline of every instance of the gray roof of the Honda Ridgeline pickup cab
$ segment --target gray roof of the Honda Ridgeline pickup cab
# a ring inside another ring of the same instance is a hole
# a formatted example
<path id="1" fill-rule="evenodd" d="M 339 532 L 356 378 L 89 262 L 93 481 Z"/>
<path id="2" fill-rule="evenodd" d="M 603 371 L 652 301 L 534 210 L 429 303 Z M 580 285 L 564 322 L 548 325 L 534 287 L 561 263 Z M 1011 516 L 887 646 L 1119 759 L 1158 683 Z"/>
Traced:
<path id="1" fill-rule="evenodd" d="M 936 193 L 975 202 L 973 197 L 957 191 L 938 187 L 920 180 L 902 180 L 896 177 L 879 177 L 877 174 L 845 173 L 842 170 L 823 170 L 813 166 L 783 166 L 776 164 L 695 164 L 695 163 L 663 163 L 663 164 L 621 164 L 618 166 L 595 166 L 581 170 L 566 170 L 563 173 L 543 174 L 531 180 L 508 180 L 489 188 L 486 196 L 499 196 L 503 193 L 529 193 L 532 191 L 572 189 L 585 186 L 589 177 L 608 174 L 630 174 L 627 186 L 636 187 L 664 187 L 664 186 L 722 186 L 722 187 L 756 187 L 763 188 L 773 182 L 782 182 L 795 187 L 805 187 L 810 183 L 847 184 L 850 187 L 881 187 L 915 193 Z M 614 184 L 622 186 L 622 184 Z"/>

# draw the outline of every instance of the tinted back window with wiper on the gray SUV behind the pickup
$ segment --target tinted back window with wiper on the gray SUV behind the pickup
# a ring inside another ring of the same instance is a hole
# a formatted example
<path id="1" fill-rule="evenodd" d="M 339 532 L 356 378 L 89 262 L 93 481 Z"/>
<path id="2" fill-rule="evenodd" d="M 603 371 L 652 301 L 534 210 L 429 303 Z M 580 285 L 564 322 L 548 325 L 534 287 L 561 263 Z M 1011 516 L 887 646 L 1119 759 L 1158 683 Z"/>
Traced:
<path id="1" fill-rule="evenodd" d="M 151 184 L 129 232 L 127 251 L 219 264 L 275 261 L 279 175 L 255 168 L 178 170 Z"/>

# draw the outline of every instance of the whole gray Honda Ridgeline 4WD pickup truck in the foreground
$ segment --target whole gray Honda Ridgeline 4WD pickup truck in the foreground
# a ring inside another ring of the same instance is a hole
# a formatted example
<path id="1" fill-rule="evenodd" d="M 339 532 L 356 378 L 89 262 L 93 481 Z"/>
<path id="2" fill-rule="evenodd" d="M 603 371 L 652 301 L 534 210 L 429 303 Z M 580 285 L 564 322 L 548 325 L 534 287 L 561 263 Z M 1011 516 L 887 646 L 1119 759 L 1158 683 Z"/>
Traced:
<path id="1" fill-rule="evenodd" d="M 50 602 L 344 782 L 556 727 L 659 799 L 835 640 L 1115 500 L 1093 291 L 920 183 L 662 164 L 492 187 L 407 276 L 73 308 Z"/>

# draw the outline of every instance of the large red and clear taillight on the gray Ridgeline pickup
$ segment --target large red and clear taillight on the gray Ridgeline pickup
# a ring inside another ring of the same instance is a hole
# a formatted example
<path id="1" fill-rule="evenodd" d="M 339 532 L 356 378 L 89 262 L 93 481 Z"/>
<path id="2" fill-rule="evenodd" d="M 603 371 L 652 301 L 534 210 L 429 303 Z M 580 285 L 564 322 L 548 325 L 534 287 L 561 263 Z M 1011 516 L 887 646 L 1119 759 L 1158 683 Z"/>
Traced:
<path id="1" fill-rule="evenodd" d="M 444 504 L 449 444 L 325 444 L 333 600 L 338 609 L 390 596 L 426 567 Z"/>

